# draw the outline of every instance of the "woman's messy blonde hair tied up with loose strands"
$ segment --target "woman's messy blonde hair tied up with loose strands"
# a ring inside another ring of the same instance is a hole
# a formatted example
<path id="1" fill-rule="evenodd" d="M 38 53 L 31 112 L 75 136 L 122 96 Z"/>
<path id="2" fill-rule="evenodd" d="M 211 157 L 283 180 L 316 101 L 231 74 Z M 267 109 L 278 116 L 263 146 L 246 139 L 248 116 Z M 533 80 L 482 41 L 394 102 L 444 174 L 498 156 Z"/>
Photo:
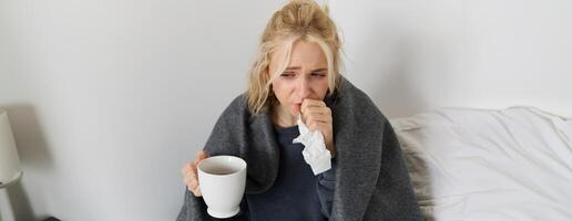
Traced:
<path id="1" fill-rule="evenodd" d="M 266 25 L 251 70 L 248 71 L 248 109 L 253 114 L 267 110 L 275 104 L 276 96 L 272 93 L 272 81 L 284 72 L 290 60 L 294 43 L 298 40 L 317 43 L 328 65 L 328 88 L 331 95 L 339 82 L 339 40 L 337 28 L 328 17 L 328 8 L 321 9 L 313 0 L 293 0 L 279 11 L 274 12 Z M 276 73 L 268 73 L 270 55 L 277 48 L 284 46 L 286 61 Z"/>

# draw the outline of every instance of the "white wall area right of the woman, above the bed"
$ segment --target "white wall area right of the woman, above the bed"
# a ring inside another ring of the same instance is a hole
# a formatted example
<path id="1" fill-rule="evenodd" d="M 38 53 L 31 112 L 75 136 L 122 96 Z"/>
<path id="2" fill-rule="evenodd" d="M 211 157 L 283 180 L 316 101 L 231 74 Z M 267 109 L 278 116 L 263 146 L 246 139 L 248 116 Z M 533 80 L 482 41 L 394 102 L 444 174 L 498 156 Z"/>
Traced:
<path id="1" fill-rule="evenodd" d="M 521 105 L 572 117 L 571 1 L 330 3 L 346 75 L 390 117 Z"/>

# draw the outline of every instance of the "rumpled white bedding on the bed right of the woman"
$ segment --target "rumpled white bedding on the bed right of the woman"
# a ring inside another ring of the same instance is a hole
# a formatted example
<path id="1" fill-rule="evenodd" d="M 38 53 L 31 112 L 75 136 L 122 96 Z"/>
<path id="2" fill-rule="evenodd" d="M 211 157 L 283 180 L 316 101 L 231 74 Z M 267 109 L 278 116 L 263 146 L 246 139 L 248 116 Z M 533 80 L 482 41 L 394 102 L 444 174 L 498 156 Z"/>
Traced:
<path id="1" fill-rule="evenodd" d="M 533 107 L 391 119 L 428 220 L 572 220 L 572 120 Z"/>

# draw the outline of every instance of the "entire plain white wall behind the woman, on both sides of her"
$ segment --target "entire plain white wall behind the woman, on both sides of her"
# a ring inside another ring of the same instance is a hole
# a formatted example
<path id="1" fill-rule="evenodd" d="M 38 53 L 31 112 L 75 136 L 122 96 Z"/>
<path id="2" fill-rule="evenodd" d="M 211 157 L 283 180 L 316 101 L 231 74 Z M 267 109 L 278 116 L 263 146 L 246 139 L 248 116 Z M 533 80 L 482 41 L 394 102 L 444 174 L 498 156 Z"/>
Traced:
<path id="1" fill-rule="evenodd" d="M 0 105 L 20 220 L 174 220 L 284 1 L 0 0 Z M 391 117 L 441 106 L 572 115 L 572 2 L 330 1 L 347 76 Z M 568 104 L 568 105 L 566 105 Z"/>

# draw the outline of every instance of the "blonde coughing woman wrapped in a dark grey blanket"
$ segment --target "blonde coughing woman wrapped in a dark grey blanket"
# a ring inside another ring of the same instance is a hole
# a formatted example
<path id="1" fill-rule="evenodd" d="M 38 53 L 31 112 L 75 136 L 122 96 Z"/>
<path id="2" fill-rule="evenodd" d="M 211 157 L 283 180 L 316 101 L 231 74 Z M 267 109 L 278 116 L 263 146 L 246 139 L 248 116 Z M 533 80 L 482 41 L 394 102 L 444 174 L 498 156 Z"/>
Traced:
<path id="1" fill-rule="evenodd" d="M 235 220 L 422 220 L 391 125 L 339 75 L 340 40 L 310 0 L 274 13 L 249 71 L 248 92 L 217 120 L 204 150 L 183 167 L 188 191 L 178 221 L 212 220 L 196 165 L 208 156 L 246 160 Z M 315 176 L 293 144 L 298 117 L 324 135 L 333 167 Z"/>

